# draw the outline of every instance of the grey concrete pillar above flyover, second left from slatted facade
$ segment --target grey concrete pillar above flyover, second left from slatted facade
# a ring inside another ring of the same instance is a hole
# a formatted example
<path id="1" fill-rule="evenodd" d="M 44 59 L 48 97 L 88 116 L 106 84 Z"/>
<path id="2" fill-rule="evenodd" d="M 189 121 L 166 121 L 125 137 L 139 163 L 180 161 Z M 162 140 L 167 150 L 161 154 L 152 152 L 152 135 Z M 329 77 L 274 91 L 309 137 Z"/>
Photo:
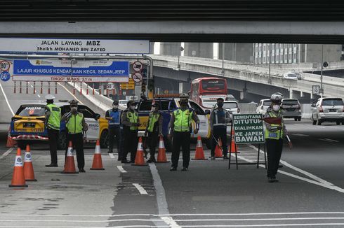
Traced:
<path id="1" fill-rule="evenodd" d="M 184 56 L 213 59 L 213 43 L 185 43 Z"/>

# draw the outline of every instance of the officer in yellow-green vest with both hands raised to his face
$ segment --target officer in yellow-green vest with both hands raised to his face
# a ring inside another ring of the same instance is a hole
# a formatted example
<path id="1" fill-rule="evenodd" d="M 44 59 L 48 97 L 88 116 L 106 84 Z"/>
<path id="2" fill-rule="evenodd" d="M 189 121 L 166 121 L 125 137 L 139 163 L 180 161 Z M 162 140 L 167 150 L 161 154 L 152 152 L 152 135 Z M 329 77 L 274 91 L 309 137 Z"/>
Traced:
<path id="1" fill-rule="evenodd" d="M 78 112 L 78 101 L 72 100 L 70 103 L 70 112 L 62 116 L 68 129 L 67 142 L 72 141 L 73 148 L 77 151 L 77 162 L 79 172 L 84 173 L 85 156 L 84 156 L 84 135 L 83 131 L 88 130 L 84 115 Z M 67 157 L 67 149 L 66 154 Z"/>

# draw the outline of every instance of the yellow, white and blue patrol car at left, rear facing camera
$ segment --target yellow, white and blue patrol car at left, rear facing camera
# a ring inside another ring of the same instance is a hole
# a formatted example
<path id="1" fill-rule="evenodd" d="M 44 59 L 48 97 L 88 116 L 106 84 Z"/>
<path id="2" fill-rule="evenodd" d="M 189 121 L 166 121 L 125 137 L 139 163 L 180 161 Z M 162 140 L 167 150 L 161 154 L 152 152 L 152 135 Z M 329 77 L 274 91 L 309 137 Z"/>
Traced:
<path id="1" fill-rule="evenodd" d="M 55 104 L 61 108 L 62 115 L 70 112 L 70 104 L 67 101 L 59 101 Z M 10 136 L 18 142 L 20 148 L 25 148 L 26 144 L 33 143 L 34 141 L 48 140 L 46 118 L 44 116 L 45 106 L 44 101 L 41 103 L 22 104 L 12 117 Z M 85 135 L 86 142 L 95 142 L 99 138 L 100 146 L 106 148 L 108 141 L 107 120 L 94 113 L 91 108 L 81 104 L 78 106 L 78 111 L 84 114 L 85 121 L 88 124 L 88 131 L 86 131 Z M 58 148 L 65 149 L 66 146 L 67 129 L 65 122 L 61 122 Z"/>

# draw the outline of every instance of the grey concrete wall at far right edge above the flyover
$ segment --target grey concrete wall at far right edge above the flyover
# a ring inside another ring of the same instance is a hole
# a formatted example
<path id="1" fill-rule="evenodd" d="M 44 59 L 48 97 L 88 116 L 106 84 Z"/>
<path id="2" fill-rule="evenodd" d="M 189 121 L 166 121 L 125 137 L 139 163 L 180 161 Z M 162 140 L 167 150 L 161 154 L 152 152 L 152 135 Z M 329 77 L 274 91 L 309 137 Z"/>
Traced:
<path id="1" fill-rule="evenodd" d="M 324 45 L 324 62 L 340 61 L 342 45 Z M 322 45 L 305 45 L 305 62 L 322 62 Z"/>

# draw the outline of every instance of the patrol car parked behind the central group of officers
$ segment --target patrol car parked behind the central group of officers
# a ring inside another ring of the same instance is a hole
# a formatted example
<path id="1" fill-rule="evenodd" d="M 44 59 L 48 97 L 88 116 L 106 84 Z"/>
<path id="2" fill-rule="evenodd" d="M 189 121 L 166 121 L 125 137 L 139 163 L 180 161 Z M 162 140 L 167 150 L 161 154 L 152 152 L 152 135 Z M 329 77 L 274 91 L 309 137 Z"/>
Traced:
<path id="1" fill-rule="evenodd" d="M 154 99 L 155 104 L 159 104 L 159 111 L 163 117 L 162 122 L 162 134 L 164 135 L 164 141 L 166 141 L 167 131 L 168 131 L 168 123 L 171 119 L 171 113 L 178 107 L 180 99 L 178 98 L 161 98 L 161 99 Z M 153 99 L 141 100 L 138 103 L 138 116 L 140 118 L 140 127 L 139 127 L 139 135 L 143 135 L 145 129 L 147 127 L 148 117 L 150 115 L 150 111 L 152 109 L 152 102 Z M 191 138 L 197 139 L 197 136 L 201 136 L 202 141 L 206 143 L 207 148 L 211 148 L 211 134 L 210 134 L 210 126 L 209 126 L 209 114 L 210 111 L 204 108 L 201 108 L 196 102 L 189 101 L 189 107 L 192 108 L 197 116 L 199 117 L 199 133 L 196 135 L 193 133 L 191 134 Z M 192 129 L 196 126 L 194 122 L 192 122 Z M 166 148 L 167 150 L 169 148 Z"/>

